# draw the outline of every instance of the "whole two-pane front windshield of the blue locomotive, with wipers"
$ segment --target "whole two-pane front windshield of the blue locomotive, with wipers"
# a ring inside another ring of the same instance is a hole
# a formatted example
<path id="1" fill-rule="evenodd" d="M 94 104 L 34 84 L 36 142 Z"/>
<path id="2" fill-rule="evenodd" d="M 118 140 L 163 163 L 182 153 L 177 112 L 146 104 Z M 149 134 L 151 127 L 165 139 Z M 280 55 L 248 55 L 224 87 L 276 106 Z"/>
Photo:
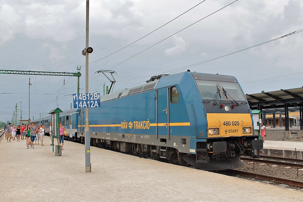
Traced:
<path id="1" fill-rule="evenodd" d="M 236 82 L 225 82 L 225 81 L 204 81 L 196 80 L 198 88 L 200 90 L 203 100 L 236 100 L 236 101 L 245 101 L 244 95 Z M 219 90 L 220 89 L 220 90 Z M 220 93 L 224 92 L 226 93 Z M 216 93 L 219 93 L 221 96 L 217 96 Z M 225 96 L 225 97 L 224 97 Z"/>

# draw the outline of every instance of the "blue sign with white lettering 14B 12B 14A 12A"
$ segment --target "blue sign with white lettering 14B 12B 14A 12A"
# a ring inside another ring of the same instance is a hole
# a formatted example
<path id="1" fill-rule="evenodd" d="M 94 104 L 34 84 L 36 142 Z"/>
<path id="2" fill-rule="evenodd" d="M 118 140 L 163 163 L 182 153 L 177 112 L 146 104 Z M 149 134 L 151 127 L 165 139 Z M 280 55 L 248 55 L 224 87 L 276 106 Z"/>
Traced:
<path id="1" fill-rule="evenodd" d="M 73 94 L 74 108 L 100 107 L 100 93 Z"/>

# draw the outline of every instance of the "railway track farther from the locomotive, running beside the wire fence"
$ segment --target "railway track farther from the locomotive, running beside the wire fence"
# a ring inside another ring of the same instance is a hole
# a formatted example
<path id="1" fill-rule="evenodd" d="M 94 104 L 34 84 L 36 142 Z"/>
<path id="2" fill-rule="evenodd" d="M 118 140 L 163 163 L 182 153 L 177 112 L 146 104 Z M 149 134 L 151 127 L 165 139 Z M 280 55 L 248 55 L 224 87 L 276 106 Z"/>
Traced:
<path id="1" fill-rule="evenodd" d="M 241 160 L 245 161 L 255 161 L 259 163 L 268 163 L 268 164 L 277 164 L 281 166 L 294 166 L 298 168 L 303 168 L 303 160 L 298 159 L 298 163 L 296 163 L 296 159 L 288 159 L 288 158 L 279 158 L 279 157 L 261 157 L 260 158 L 246 158 L 246 157 L 241 157 Z M 275 161 L 278 160 L 278 161 Z"/>

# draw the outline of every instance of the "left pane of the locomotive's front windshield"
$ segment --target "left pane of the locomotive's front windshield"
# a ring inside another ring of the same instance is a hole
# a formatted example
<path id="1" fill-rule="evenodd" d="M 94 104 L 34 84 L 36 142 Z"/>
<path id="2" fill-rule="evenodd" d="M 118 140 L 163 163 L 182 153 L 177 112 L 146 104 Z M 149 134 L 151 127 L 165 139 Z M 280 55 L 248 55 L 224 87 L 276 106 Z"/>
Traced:
<path id="1" fill-rule="evenodd" d="M 218 92 L 218 84 L 216 81 L 196 80 L 203 100 L 214 100 Z M 223 100 L 222 92 L 218 100 Z"/>

